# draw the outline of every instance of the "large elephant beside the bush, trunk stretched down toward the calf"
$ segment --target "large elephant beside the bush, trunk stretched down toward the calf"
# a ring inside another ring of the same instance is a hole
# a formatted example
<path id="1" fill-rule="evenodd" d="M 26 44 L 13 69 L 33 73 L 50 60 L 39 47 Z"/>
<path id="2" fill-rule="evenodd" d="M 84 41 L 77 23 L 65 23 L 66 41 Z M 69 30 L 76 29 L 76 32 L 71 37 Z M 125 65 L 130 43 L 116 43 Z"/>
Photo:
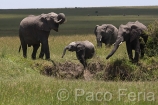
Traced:
<path id="1" fill-rule="evenodd" d="M 129 59 L 132 62 L 138 62 L 140 51 L 141 56 L 144 56 L 144 46 L 148 39 L 148 35 L 146 35 L 144 32 L 145 30 L 147 30 L 147 27 L 139 21 L 128 22 L 126 25 L 120 25 L 118 30 L 118 37 L 114 44 L 114 48 L 106 57 L 106 59 L 109 59 L 116 52 L 119 45 L 122 42 L 126 41 L 126 48 Z M 140 43 L 140 37 L 143 39 L 144 44 Z M 133 49 L 135 50 L 134 58 L 132 54 Z"/>

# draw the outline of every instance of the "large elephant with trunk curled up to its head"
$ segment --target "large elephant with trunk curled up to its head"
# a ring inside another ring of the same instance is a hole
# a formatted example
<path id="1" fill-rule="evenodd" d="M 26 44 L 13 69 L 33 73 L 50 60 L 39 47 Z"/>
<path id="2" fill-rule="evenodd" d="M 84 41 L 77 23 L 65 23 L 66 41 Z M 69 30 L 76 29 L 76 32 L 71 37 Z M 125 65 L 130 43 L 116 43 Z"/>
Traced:
<path id="1" fill-rule="evenodd" d="M 27 57 L 27 46 L 33 46 L 32 59 L 36 59 L 36 53 L 41 43 L 41 52 L 39 58 L 50 59 L 48 37 L 51 29 L 58 32 L 59 25 L 65 22 L 63 13 L 54 12 L 41 14 L 38 16 L 30 15 L 24 18 L 20 23 L 19 37 L 23 50 L 23 56 Z M 19 51 L 21 49 L 19 48 Z"/>

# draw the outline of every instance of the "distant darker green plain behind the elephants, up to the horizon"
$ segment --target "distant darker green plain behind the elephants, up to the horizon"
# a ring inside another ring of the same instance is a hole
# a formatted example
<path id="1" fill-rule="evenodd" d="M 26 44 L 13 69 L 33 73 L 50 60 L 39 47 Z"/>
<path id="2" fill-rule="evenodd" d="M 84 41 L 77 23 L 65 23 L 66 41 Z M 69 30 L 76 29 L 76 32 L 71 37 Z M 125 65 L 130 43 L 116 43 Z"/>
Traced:
<path id="1" fill-rule="evenodd" d="M 63 8 L 63 9 L 15 9 L 0 10 L 0 36 L 18 35 L 20 21 L 30 15 L 56 12 L 65 13 L 67 23 L 61 25 L 59 33 L 54 35 L 93 34 L 95 25 L 113 24 L 119 27 L 128 21 L 148 25 L 158 18 L 158 7 L 104 7 L 104 8 Z M 98 11 L 96 14 L 95 12 Z M 90 16 L 88 16 L 88 14 Z M 125 14 L 125 16 L 123 16 Z M 98 15 L 98 16 L 97 16 Z M 139 15 L 139 16 L 138 16 Z"/>

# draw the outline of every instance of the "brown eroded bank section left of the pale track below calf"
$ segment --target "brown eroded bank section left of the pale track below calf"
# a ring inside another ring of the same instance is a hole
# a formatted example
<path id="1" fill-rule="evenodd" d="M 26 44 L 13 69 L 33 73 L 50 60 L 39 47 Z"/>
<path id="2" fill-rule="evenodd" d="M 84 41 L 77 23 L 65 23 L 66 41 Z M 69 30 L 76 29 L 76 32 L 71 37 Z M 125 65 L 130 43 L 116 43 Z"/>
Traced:
<path id="1" fill-rule="evenodd" d="M 84 68 L 81 64 L 72 62 L 56 63 L 51 62 L 36 62 L 32 65 L 33 69 L 40 71 L 42 75 L 53 76 L 57 78 L 83 78 Z"/>

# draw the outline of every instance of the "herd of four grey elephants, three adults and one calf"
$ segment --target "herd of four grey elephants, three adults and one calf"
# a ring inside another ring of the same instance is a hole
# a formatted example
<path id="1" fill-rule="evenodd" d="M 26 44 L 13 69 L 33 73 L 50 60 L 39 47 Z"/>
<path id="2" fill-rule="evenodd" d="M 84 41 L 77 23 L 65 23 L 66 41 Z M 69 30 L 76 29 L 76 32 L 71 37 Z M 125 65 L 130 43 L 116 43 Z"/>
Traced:
<path id="1" fill-rule="evenodd" d="M 48 45 L 48 37 L 51 29 L 58 32 L 60 24 L 63 24 L 66 20 L 64 13 L 56 14 L 54 12 L 48 14 L 41 14 L 38 16 L 29 15 L 24 18 L 20 23 L 19 38 L 20 48 L 22 47 L 23 56 L 27 57 L 27 46 L 33 46 L 32 59 L 36 59 L 36 53 L 41 44 L 41 51 L 39 58 L 50 59 L 50 51 Z M 125 25 L 120 25 L 117 29 L 112 24 L 96 25 L 94 28 L 94 34 L 96 35 L 97 46 L 101 47 L 102 43 L 105 45 L 114 45 L 114 48 L 107 55 L 106 59 L 109 59 L 118 49 L 122 42 L 126 42 L 126 49 L 128 57 L 132 62 L 138 62 L 140 57 L 144 56 L 144 48 L 148 39 L 148 35 L 145 33 L 147 27 L 139 21 L 128 22 Z M 86 41 L 71 42 L 64 48 L 64 57 L 66 50 L 75 51 L 76 57 L 80 63 L 87 67 L 86 60 L 93 57 L 95 53 L 94 45 Z M 133 57 L 132 50 L 135 50 L 135 56 Z"/>

